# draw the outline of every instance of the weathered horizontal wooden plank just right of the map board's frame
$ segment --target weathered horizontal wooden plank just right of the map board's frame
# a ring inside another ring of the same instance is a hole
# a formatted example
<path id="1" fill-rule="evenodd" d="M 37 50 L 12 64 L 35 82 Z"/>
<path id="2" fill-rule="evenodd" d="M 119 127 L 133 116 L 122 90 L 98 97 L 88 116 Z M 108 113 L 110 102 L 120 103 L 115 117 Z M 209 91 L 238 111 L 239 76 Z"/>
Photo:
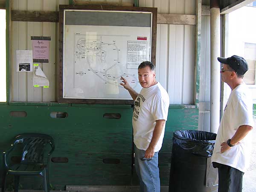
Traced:
<path id="1" fill-rule="evenodd" d="M 195 15 L 180 15 L 180 14 L 157 14 L 157 23 L 159 24 L 180 24 L 180 25 L 195 25 Z"/>

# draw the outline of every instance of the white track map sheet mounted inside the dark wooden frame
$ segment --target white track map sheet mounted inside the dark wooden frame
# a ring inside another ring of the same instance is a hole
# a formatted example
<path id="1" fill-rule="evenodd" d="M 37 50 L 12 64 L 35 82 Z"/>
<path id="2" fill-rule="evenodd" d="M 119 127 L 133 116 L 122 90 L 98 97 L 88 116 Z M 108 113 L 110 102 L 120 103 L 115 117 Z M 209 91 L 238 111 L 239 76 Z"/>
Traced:
<path id="1" fill-rule="evenodd" d="M 151 60 L 151 27 L 76 25 L 64 20 L 63 33 L 64 99 L 132 100 L 119 84 L 121 76 L 140 92 L 137 69 Z"/>

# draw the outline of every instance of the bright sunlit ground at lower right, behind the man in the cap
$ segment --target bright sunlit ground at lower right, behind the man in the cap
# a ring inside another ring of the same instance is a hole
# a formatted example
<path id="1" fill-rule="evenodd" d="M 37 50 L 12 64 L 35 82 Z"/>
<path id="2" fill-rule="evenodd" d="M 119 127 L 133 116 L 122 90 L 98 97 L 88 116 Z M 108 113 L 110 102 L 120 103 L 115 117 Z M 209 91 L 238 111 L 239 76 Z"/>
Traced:
<path id="1" fill-rule="evenodd" d="M 243 177 L 243 192 L 256 192 L 256 119 L 254 119 L 254 125 L 252 130 L 252 155 L 250 167 Z"/>

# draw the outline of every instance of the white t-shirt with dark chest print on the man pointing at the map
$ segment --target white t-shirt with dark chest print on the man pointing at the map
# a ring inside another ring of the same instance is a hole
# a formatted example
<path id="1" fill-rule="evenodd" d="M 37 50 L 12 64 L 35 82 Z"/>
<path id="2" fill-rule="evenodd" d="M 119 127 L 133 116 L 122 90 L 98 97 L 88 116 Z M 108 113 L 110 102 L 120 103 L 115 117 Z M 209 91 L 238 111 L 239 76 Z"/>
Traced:
<path id="1" fill-rule="evenodd" d="M 156 120 L 167 120 L 169 96 L 166 90 L 157 84 L 142 88 L 134 102 L 132 125 L 134 130 L 134 144 L 138 149 L 146 150 L 151 142 Z M 165 127 L 155 146 L 159 151 L 163 143 Z"/>

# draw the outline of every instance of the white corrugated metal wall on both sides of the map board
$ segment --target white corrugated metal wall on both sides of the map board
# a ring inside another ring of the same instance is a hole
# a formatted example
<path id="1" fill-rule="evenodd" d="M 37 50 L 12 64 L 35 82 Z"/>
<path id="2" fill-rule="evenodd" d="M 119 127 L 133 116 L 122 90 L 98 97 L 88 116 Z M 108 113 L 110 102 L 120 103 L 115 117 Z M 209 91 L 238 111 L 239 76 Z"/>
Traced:
<path id="1" fill-rule="evenodd" d="M 68 4 L 68 2 L 68 0 L 13 0 L 12 10 L 58 11 L 59 4 Z M 122 2 L 127 3 L 128 0 Z M 195 0 L 140 0 L 139 6 L 157 7 L 158 13 L 195 15 Z M 32 50 L 30 36 L 51 36 L 49 64 L 39 64 L 49 79 L 49 88 L 34 88 L 32 73 L 16 72 L 16 50 Z M 11 101 L 56 101 L 57 43 L 58 23 L 12 22 Z M 157 81 L 168 91 L 171 104 L 193 104 L 194 55 L 195 26 L 157 24 Z"/>

